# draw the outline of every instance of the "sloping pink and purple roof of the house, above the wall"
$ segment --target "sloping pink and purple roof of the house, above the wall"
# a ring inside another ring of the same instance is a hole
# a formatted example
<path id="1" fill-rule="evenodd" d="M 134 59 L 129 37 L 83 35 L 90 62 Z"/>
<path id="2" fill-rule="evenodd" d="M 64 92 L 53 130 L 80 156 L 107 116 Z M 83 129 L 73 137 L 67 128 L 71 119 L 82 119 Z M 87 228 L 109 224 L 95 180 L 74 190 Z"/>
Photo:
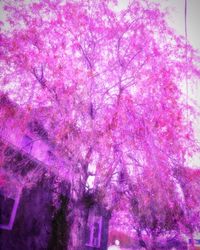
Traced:
<path id="1" fill-rule="evenodd" d="M 0 94 L 0 138 L 49 165 L 54 145 L 42 121 L 35 118 L 36 112 L 27 112 L 5 94 Z"/>

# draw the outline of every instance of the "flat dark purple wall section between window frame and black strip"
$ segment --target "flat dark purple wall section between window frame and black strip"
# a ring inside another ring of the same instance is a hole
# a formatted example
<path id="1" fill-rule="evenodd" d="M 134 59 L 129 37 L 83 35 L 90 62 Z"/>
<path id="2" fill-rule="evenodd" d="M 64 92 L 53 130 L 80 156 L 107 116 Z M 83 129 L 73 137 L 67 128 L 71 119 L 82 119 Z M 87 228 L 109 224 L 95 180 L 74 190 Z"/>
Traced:
<path id="1" fill-rule="evenodd" d="M 47 249 L 51 232 L 51 192 L 48 180 L 24 189 L 12 230 L 0 229 L 0 249 Z"/>

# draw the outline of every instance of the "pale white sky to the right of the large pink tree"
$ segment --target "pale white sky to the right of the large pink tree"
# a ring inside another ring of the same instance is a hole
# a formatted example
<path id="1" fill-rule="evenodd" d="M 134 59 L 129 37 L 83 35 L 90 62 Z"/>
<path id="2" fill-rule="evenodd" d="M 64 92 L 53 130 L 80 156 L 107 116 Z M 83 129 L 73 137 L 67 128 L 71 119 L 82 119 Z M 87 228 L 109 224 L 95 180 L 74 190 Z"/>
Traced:
<path id="1" fill-rule="evenodd" d="M 185 0 L 150 0 L 160 4 L 162 9 L 168 8 L 168 24 L 177 34 L 185 36 Z M 116 10 L 124 9 L 129 0 L 119 0 Z M 200 0 L 187 0 L 187 34 L 189 43 L 200 51 Z M 197 102 L 200 108 L 200 81 L 189 88 L 189 98 Z M 200 143 L 200 117 L 195 117 L 194 127 Z M 200 167 L 200 155 L 189 161 L 194 167 Z"/>

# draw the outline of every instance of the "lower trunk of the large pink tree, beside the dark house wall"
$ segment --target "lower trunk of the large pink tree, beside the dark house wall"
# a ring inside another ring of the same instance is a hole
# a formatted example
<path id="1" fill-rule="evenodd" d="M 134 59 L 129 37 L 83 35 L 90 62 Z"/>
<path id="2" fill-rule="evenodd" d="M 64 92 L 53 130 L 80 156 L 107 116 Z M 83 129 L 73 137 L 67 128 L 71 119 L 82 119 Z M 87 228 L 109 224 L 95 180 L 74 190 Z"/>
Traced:
<path id="1" fill-rule="evenodd" d="M 67 250 L 85 249 L 86 225 L 87 209 L 83 205 L 74 205 L 71 214 L 71 226 Z"/>

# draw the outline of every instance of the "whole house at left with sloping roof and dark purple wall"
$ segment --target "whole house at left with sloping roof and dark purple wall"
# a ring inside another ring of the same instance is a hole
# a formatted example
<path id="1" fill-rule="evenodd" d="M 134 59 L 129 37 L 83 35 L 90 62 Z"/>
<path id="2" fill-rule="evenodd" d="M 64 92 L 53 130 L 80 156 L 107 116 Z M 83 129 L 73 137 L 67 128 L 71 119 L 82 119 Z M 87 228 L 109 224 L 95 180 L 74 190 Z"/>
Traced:
<path id="1" fill-rule="evenodd" d="M 65 249 L 66 216 L 60 226 L 54 217 L 67 211 L 70 186 L 54 167 L 54 145 L 41 121 L 4 94 L 0 118 L 0 248 Z"/>

